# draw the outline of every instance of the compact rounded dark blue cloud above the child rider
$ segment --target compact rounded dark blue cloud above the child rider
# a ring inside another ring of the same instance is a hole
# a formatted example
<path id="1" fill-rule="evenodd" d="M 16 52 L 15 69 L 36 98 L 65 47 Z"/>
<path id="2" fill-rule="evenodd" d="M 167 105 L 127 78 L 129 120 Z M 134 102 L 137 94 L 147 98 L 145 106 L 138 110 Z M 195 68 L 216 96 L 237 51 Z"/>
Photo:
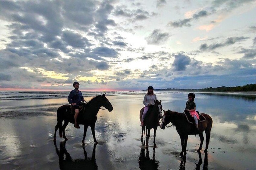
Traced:
<path id="1" fill-rule="evenodd" d="M 190 63 L 190 58 L 183 54 L 177 54 L 174 56 L 174 62 L 172 66 L 175 71 L 184 71 L 186 66 Z"/>

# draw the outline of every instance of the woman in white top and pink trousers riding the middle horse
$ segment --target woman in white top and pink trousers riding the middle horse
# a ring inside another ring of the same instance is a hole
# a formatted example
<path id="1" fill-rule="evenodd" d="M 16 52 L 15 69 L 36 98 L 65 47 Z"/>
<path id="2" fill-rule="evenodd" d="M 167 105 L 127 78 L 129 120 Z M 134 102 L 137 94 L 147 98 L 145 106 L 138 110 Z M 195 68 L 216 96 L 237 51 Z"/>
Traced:
<path id="1" fill-rule="evenodd" d="M 155 102 L 154 100 L 156 101 L 156 95 L 154 93 L 154 88 L 152 86 L 149 86 L 148 87 L 148 93 L 144 96 L 144 100 L 143 100 L 143 104 L 145 105 L 144 107 L 144 111 L 143 111 L 143 114 L 142 114 L 142 122 L 141 122 L 141 126 L 144 126 L 144 119 L 145 119 L 145 116 L 146 116 L 146 113 L 147 111 L 149 110 L 149 106 L 150 105 L 155 105 Z"/>

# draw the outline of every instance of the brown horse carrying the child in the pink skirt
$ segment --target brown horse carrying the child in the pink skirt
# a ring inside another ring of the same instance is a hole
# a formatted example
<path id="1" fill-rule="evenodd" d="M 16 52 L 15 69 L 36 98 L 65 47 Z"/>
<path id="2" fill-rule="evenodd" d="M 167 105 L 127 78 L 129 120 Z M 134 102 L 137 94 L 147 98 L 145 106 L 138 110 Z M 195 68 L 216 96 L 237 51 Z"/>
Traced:
<path id="1" fill-rule="evenodd" d="M 200 147 L 197 150 L 197 152 L 200 152 L 200 150 L 202 149 L 203 140 L 204 140 L 203 131 L 205 131 L 205 134 L 206 134 L 206 147 L 205 147 L 204 152 L 205 153 L 207 152 L 209 141 L 210 141 L 213 120 L 212 120 L 211 116 L 209 116 L 205 113 L 201 113 L 200 115 L 203 115 L 206 120 L 203 122 L 198 122 L 198 127 L 199 127 L 199 131 L 198 131 L 195 128 L 194 124 L 191 124 L 187 121 L 187 118 L 184 113 L 173 112 L 171 110 L 168 110 L 166 112 L 164 111 L 164 116 L 163 116 L 163 120 L 162 120 L 162 124 L 161 124 L 160 128 L 165 129 L 165 126 L 170 122 L 174 126 L 176 126 L 176 130 L 181 138 L 181 147 L 182 147 L 182 150 L 180 153 L 181 156 L 183 156 L 183 153 L 184 153 L 184 155 L 187 154 L 187 152 L 186 152 L 187 138 L 188 138 L 188 135 L 190 135 L 190 134 L 198 134 L 199 135 Z"/>

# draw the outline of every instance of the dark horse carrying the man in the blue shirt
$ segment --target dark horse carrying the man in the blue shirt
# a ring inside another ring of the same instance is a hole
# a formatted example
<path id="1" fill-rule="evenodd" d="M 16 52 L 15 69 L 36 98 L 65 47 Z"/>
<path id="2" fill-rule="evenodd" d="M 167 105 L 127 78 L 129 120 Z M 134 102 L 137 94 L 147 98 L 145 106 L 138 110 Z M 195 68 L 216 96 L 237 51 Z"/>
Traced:
<path id="1" fill-rule="evenodd" d="M 75 122 L 74 120 L 74 113 L 71 113 L 69 104 L 65 104 L 58 108 L 57 110 L 57 125 L 55 126 L 55 133 L 53 135 L 53 141 L 56 141 L 56 131 L 59 128 L 59 136 L 65 140 L 68 140 L 65 135 L 65 128 L 70 123 Z M 112 104 L 108 101 L 105 94 L 98 95 L 93 97 L 88 104 L 83 103 L 83 109 L 79 112 L 77 122 L 79 125 L 84 126 L 84 138 L 82 140 L 82 144 L 85 145 L 85 136 L 88 126 L 91 127 L 91 132 L 93 135 L 93 141 L 98 143 L 95 138 L 95 122 L 97 120 L 97 113 L 101 107 L 105 107 L 109 112 L 113 110 Z M 62 126 L 62 121 L 64 120 L 64 124 Z"/>

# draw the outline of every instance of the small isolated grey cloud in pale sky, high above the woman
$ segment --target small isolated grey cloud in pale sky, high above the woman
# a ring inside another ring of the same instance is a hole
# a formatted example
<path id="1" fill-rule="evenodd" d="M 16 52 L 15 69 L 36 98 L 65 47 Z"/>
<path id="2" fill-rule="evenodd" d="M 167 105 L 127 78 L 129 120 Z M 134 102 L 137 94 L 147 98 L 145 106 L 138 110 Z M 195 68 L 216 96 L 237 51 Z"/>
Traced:
<path id="1" fill-rule="evenodd" d="M 169 37 L 170 35 L 167 32 L 161 33 L 159 29 L 155 29 L 148 37 L 146 37 L 146 40 L 148 44 L 158 45 L 165 43 Z"/>

